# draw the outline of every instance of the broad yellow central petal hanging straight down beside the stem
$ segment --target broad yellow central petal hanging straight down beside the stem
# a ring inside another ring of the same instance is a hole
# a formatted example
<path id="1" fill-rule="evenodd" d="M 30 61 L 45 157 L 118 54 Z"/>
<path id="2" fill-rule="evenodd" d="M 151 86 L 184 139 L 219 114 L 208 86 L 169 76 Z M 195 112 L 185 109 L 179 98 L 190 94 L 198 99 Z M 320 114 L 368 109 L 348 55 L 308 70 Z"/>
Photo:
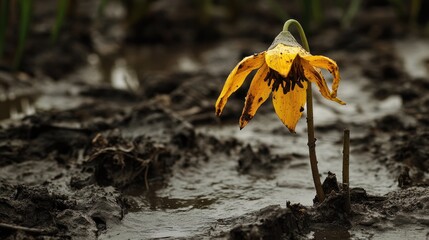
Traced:
<path id="1" fill-rule="evenodd" d="M 295 132 L 296 124 L 301 118 L 306 102 L 307 81 L 302 83 L 303 88 L 295 87 L 293 91 L 283 94 L 283 91 L 277 90 L 273 92 L 273 105 L 277 116 L 289 129 L 290 132 Z"/>

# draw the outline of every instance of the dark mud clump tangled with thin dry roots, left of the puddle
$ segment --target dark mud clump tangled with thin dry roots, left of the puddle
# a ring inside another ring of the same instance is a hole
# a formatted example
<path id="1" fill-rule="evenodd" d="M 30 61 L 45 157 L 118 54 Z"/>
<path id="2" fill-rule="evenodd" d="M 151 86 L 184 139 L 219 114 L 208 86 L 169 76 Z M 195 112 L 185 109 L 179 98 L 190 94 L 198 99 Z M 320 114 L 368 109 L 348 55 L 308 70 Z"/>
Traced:
<path id="1" fill-rule="evenodd" d="M 148 179 L 168 172 L 175 158 L 165 147 L 144 137 L 127 141 L 119 136 L 97 135 L 86 166 L 94 168 L 95 182 L 100 186 L 122 189 L 141 184 L 149 188 Z"/>

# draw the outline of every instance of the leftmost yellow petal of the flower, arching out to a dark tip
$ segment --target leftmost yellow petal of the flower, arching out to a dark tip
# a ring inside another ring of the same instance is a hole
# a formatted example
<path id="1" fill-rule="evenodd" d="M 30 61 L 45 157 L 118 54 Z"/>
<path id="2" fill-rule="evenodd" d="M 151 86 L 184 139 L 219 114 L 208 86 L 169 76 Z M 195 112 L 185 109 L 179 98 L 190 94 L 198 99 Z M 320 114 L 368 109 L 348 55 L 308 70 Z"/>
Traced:
<path id="1" fill-rule="evenodd" d="M 220 116 L 229 96 L 237 91 L 243 85 L 249 73 L 257 68 L 260 68 L 265 61 L 265 52 L 254 54 L 253 56 L 245 57 L 235 66 L 225 81 L 222 92 L 216 101 L 216 115 Z"/>

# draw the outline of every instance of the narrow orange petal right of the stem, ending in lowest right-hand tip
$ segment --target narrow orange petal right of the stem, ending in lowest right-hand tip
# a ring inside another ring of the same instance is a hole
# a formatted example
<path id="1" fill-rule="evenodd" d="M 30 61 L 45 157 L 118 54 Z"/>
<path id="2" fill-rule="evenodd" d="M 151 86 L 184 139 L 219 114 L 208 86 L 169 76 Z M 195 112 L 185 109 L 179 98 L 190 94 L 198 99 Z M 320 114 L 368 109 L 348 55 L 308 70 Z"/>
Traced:
<path id="1" fill-rule="evenodd" d="M 305 77 L 310 82 L 313 82 L 317 85 L 322 96 L 324 96 L 326 99 L 332 100 L 339 104 L 342 104 L 342 105 L 346 104 L 345 102 L 341 101 L 337 97 L 333 96 L 333 94 L 328 88 L 328 85 L 326 84 L 325 78 L 323 77 L 322 73 L 320 73 L 312 65 L 310 65 L 310 63 L 307 60 L 301 59 L 301 65 L 304 69 Z"/>

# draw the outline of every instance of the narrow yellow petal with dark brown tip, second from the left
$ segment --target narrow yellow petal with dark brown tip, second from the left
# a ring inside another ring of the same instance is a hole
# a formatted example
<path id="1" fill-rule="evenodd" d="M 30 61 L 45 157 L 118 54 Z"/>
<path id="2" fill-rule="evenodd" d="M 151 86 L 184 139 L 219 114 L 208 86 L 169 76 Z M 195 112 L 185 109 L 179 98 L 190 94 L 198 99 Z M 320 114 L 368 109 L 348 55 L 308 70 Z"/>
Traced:
<path id="1" fill-rule="evenodd" d="M 268 87 L 268 83 L 264 80 L 268 74 L 268 70 L 268 66 L 264 64 L 253 77 L 249 91 L 247 92 L 243 113 L 240 117 L 240 129 L 244 128 L 252 120 L 258 108 L 270 96 L 271 88 Z"/>

